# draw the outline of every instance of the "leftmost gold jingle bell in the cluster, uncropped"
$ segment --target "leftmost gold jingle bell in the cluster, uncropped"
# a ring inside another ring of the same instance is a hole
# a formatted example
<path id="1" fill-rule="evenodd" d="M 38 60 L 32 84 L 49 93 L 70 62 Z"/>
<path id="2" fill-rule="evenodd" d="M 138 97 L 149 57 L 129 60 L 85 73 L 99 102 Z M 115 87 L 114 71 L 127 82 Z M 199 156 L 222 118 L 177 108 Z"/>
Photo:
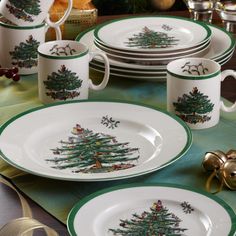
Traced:
<path id="1" fill-rule="evenodd" d="M 227 161 L 227 156 L 224 152 L 216 150 L 206 152 L 202 166 L 207 171 L 219 170 L 221 166 Z"/>

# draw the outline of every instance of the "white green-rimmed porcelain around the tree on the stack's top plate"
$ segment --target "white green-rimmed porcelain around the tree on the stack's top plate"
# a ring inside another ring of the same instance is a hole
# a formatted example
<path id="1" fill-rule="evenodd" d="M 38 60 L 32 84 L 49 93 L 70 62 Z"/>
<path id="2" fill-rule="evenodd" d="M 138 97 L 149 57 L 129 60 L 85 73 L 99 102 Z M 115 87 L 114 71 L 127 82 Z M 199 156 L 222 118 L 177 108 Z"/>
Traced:
<path id="1" fill-rule="evenodd" d="M 167 34 L 176 40 L 173 45 L 165 48 L 130 47 L 129 38 L 140 34 L 145 28 L 154 32 Z M 100 25 L 94 32 L 96 40 L 102 44 L 122 51 L 167 52 L 191 48 L 208 40 L 211 36 L 206 25 L 201 25 L 185 18 L 159 16 L 134 17 L 118 19 Z"/>

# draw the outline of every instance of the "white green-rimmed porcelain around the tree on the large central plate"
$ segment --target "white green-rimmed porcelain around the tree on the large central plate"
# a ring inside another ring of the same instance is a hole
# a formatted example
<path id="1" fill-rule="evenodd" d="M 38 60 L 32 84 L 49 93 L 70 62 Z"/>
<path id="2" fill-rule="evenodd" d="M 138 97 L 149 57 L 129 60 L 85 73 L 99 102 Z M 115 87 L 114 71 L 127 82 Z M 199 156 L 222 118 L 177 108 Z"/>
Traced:
<path id="1" fill-rule="evenodd" d="M 118 127 L 102 124 L 105 116 L 119 121 Z M 138 148 L 140 157 L 135 166 L 108 173 L 53 168 L 55 165 L 47 161 L 53 156 L 51 149 L 60 147 L 60 141 L 71 135 L 76 124 Z M 12 118 L 2 126 L 0 149 L 4 160 L 26 172 L 63 180 L 102 181 L 163 168 L 180 158 L 191 142 L 190 130 L 175 116 L 135 104 L 85 101 L 41 107 Z"/>

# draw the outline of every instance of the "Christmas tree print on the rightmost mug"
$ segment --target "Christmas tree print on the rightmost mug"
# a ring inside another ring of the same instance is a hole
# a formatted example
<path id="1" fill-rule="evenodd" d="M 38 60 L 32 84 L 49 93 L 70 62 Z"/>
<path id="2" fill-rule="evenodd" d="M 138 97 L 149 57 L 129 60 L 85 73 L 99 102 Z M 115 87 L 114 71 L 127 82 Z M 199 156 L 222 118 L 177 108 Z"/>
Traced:
<path id="1" fill-rule="evenodd" d="M 211 116 L 208 116 L 207 113 L 211 112 L 214 107 L 208 96 L 201 93 L 197 87 L 194 87 L 189 94 L 178 97 L 177 102 L 174 102 L 173 105 L 176 114 L 190 124 L 209 121 Z"/>

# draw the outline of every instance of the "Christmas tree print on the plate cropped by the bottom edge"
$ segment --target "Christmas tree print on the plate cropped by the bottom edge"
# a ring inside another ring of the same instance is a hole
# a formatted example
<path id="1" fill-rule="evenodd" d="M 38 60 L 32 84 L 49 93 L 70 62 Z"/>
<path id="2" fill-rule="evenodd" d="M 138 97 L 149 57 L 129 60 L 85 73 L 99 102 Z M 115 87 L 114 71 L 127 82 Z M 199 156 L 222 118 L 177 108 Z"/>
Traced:
<path id="1" fill-rule="evenodd" d="M 119 236 L 167 236 L 183 235 L 185 228 L 180 228 L 181 220 L 163 206 L 158 200 L 142 214 L 133 214 L 130 220 L 120 220 L 120 228 L 109 229 L 113 235 Z"/>

